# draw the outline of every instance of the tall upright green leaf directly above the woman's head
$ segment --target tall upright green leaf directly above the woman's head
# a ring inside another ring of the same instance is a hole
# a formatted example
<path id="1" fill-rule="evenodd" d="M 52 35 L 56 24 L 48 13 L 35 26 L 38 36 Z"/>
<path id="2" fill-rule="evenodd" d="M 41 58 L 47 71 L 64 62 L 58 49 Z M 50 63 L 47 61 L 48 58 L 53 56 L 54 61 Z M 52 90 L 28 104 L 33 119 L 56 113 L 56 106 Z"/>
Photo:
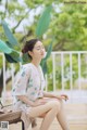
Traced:
<path id="1" fill-rule="evenodd" d="M 40 17 L 37 28 L 36 28 L 36 36 L 40 37 L 45 34 L 45 31 L 48 29 L 49 23 L 50 23 L 50 12 L 51 12 L 52 5 L 49 5 L 45 12 L 42 13 L 42 16 Z"/>

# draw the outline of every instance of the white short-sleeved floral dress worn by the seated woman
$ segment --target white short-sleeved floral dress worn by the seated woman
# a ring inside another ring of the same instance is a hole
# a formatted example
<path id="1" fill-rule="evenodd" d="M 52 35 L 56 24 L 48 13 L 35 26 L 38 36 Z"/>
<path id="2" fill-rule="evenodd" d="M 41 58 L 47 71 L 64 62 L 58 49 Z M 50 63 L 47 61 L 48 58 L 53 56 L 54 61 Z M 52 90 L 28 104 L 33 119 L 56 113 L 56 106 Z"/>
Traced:
<path id="1" fill-rule="evenodd" d="M 32 107 L 20 101 L 17 95 L 26 95 L 28 100 L 35 102 L 38 98 L 44 96 L 44 88 L 45 78 L 41 67 L 37 68 L 32 63 L 23 65 L 13 88 L 13 96 L 15 98 L 14 107 L 24 112 L 29 110 Z"/>

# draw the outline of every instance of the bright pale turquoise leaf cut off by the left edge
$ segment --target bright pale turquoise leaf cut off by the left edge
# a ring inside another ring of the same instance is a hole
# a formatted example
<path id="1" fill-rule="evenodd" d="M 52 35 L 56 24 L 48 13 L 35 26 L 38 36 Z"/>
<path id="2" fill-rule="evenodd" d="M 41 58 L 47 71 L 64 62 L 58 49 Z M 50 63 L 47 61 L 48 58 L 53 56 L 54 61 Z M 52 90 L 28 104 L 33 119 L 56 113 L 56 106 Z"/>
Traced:
<path id="1" fill-rule="evenodd" d="M 0 51 L 10 54 L 12 52 L 12 49 L 9 48 L 4 41 L 0 40 Z"/>

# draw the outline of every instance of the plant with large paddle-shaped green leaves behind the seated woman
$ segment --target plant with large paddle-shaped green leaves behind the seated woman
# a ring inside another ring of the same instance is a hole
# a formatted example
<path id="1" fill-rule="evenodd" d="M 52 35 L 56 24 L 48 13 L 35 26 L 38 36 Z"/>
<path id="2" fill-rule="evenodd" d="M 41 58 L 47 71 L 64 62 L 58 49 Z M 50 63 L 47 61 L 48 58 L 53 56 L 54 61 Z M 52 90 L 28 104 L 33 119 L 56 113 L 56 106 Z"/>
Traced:
<path id="1" fill-rule="evenodd" d="M 36 37 L 41 38 L 42 35 L 47 31 L 50 24 L 51 10 L 52 10 L 52 5 L 47 6 L 41 17 L 39 18 L 36 27 Z M 18 50 L 21 50 L 20 43 L 17 42 L 16 38 L 13 36 L 10 28 L 8 27 L 8 24 L 4 21 L 2 21 L 2 26 L 4 29 L 4 34 L 8 38 L 8 41 L 0 40 L 0 51 L 4 53 L 7 61 L 10 63 L 17 63 L 17 62 L 25 63 L 27 61 L 27 54 L 24 54 L 22 57 L 20 56 L 20 52 L 16 51 L 16 47 L 18 48 Z M 46 57 L 41 62 L 44 74 L 46 74 L 47 72 L 47 60 L 52 51 L 52 43 L 53 43 L 53 39 L 48 47 L 48 52 Z"/>

